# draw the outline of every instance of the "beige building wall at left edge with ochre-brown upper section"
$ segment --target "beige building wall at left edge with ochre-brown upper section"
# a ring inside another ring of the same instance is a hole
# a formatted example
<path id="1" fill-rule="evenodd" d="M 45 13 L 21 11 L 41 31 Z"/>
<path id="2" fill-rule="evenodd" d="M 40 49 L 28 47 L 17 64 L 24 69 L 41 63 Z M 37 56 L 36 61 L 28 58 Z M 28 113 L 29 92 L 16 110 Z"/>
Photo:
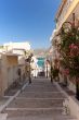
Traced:
<path id="1" fill-rule="evenodd" d="M 17 56 L 2 55 L 0 70 L 0 95 L 3 95 L 8 87 L 18 79 Z"/>

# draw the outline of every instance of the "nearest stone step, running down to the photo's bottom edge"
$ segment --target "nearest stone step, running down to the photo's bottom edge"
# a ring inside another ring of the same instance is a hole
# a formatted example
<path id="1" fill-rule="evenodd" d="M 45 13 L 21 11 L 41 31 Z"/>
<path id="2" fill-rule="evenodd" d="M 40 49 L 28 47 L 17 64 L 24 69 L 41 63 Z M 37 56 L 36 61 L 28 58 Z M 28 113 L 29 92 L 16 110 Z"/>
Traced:
<path id="1" fill-rule="evenodd" d="M 75 117 L 62 115 L 62 109 L 6 110 L 5 112 L 8 120 L 76 120 Z"/>

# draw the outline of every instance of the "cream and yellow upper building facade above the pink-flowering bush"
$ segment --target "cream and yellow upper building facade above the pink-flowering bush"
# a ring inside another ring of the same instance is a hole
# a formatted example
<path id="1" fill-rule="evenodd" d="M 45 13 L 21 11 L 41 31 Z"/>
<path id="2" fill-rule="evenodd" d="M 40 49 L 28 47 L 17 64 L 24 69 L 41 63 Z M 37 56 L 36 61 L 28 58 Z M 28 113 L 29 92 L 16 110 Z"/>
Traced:
<path id="1" fill-rule="evenodd" d="M 73 13 L 76 14 L 76 20 L 79 21 L 79 0 L 62 0 L 62 3 L 56 13 L 56 29 L 61 29 L 64 22 L 73 22 Z"/>

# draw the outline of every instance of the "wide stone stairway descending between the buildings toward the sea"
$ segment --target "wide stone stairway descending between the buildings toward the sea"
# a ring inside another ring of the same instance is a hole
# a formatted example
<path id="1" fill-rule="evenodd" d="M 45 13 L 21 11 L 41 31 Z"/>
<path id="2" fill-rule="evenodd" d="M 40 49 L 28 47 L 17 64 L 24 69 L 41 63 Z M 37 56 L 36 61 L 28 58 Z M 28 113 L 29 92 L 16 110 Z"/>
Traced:
<path id="1" fill-rule="evenodd" d="M 5 108 L 8 120 L 76 120 L 64 111 L 66 97 L 48 79 L 32 80 Z"/>

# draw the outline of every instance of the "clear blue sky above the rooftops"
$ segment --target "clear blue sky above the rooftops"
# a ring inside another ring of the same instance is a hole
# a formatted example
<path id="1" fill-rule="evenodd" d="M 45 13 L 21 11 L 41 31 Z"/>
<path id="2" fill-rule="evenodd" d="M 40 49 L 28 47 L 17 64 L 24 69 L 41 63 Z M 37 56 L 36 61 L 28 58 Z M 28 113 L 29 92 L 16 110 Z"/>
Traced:
<path id="1" fill-rule="evenodd" d="M 28 40 L 32 48 L 50 46 L 61 0 L 0 0 L 0 45 Z"/>

